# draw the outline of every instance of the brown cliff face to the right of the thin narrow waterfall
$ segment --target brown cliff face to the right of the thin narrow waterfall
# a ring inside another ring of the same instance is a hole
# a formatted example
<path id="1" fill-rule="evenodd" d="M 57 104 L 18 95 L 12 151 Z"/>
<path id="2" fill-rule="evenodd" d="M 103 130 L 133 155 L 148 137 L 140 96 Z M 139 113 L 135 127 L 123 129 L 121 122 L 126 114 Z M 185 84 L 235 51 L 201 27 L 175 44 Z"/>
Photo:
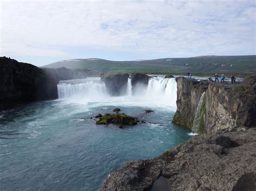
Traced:
<path id="1" fill-rule="evenodd" d="M 256 95 L 252 86 L 211 83 L 206 93 L 206 132 L 256 125 Z"/>

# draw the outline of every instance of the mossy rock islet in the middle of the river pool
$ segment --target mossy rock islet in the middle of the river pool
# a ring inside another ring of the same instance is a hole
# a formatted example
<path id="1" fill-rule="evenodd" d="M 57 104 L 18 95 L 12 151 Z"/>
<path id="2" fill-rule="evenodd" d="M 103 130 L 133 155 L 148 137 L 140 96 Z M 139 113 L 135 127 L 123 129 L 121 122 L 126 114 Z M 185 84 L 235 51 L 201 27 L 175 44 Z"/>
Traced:
<path id="1" fill-rule="evenodd" d="M 137 125 L 137 119 L 125 114 L 104 114 L 96 121 L 97 125 L 107 125 L 110 123 L 116 125 Z"/>

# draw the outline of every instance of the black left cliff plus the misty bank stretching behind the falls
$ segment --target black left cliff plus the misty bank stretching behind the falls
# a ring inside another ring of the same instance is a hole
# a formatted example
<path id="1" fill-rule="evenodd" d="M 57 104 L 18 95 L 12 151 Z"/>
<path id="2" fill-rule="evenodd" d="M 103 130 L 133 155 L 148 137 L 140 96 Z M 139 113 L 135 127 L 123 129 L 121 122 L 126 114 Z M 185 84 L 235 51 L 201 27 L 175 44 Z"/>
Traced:
<path id="1" fill-rule="evenodd" d="M 60 80 L 99 76 L 91 70 L 38 68 L 29 63 L 0 57 L 0 110 L 19 103 L 58 98 Z"/>

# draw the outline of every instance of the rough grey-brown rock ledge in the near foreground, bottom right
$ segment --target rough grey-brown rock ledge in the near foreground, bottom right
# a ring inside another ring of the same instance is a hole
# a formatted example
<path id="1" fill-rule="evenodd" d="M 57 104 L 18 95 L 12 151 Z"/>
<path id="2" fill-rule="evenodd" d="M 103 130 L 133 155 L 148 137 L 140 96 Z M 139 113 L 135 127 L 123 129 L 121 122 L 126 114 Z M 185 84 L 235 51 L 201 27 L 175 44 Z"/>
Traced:
<path id="1" fill-rule="evenodd" d="M 196 136 L 155 159 L 128 162 L 100 190 L 255 190 L 255 177 L 256 130 L 250 129 Z"/>

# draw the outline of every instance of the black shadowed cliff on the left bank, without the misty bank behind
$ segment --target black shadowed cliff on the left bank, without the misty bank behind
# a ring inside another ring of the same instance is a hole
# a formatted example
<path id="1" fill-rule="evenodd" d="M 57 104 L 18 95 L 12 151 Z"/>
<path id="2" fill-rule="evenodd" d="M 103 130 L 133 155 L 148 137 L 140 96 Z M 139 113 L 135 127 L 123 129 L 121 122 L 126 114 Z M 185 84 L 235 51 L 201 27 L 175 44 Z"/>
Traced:
<path id="1" fill-rule="evenodd" d="M 29 63 L 0 58 L 0 100 L 36 101 L 55 99 L 55 80 L 41 68 Z"/>

